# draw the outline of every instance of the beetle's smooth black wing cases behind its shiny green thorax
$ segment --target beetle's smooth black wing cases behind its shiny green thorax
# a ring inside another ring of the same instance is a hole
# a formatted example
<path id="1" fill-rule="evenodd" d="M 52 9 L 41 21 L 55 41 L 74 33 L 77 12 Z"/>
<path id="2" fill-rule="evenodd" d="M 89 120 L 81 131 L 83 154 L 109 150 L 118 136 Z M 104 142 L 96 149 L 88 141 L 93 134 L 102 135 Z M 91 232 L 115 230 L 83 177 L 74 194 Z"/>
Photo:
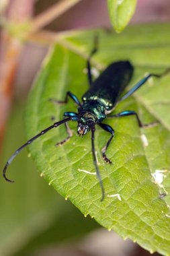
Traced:
<path id="1" fill-rule="evenodd" d="M 130 82 L 133 67 L 129 61 L 118 61 L 110 64 L 93 82 L 82 100 L 101 100 L 107 110 L 114 107 L 120 94 Z"/>

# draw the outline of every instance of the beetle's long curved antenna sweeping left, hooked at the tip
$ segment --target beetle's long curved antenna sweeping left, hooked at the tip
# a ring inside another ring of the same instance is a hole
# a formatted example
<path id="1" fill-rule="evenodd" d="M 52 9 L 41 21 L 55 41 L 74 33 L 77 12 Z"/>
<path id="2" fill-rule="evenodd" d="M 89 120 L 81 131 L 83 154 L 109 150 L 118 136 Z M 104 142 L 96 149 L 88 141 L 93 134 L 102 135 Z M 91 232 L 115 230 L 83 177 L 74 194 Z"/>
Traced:
<path id="1" fill-rule="evenodd" d="M 38 137 L 44 135 L 45 133 L 47 133 L 48 131 L 50 131 L 51 129 L 58 127 L 59 125 L 62 125 L 62 123 L 66 123 L 68 121 L 72 120 L 72 117 L 69 117 L 67 119 L 63 119 L 61 121 L 58 121 L 56 123 L 54 123 L 53 125 L 47 127 L 46 129 L 44 129 L 43 131 L 41 131 L 40 133 L 38 133 L 36 136 L 32 137 L 31 139 L 29 139 L 24 145 L 22 145 L 20 148 L 18 148 L 15 153 L 9 158 L 9 160 L 7 161 L 7 163 L 5 164 L 5 167 L 3 169 L 3 177 L 5 179 L 5 181 L 8 181 L 9 183 L 13 183 L 14 181 L 11 181 L 9 179 L 7 179 L 6 177 L 6 172 L 7 172 L 7 167 L 9 166 L 9 164 L 11 164 L 11 162 L 13 161 L 13 158 L 15 158 L 15 156 L 17 156 L 17 154 L 22 151 L 24 148 L 26 148 L 26 146 L 30 145 L 30 143 L 32 143 L 32 141 L 38 139 Z"/>

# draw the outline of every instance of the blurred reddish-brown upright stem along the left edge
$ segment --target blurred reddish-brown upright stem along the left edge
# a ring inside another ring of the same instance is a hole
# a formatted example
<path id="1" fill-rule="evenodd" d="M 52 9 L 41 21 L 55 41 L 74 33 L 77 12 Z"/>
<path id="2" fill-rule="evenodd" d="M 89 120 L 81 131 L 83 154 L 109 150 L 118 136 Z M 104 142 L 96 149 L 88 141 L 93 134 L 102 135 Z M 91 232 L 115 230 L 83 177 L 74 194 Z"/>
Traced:
<path id="1" fill-rule="evenodd" d="M 1 0 L 0 0 L 1 1 Z M 35 0 L 3 1 L 1 16 L 9 23 L 22 24 L 30 20 Z M 22 53 L 23 42 L 9 34 L 5 28 L 0 32 L 0 152 L 5 124 L 13 98 L 13 81 Z"/>

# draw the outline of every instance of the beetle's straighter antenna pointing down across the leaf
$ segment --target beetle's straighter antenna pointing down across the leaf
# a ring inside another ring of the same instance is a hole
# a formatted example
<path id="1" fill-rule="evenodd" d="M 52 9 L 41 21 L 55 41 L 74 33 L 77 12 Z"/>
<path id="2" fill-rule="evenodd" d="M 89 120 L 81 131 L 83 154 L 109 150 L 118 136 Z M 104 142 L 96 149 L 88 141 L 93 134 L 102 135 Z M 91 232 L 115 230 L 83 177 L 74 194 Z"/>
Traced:
<path id="1" fill-rule="evenodd" d="M 93 125 L 91 127 L 91 142 L 92 142 L 92 153 L 93 153 L 93 162 L 95 165 L 95 170 L 96 170 L 96 174 L 97 174 L 97 179 L 99 180 L 99 185 L 101 187 L 101 201 L 103 201 L 104 197 L 105 197 L 105 191 L 104 191 L 104 187 L 103 187 L 103 182 L 101 180 L 101 176 L 99 173 L 99 168 L 97 166 L 97 159 L 96 159 L 96 155 L 95 155 L 95 144 L 94 144 L 94 140 L 95 140 L 95 125 Z"/>

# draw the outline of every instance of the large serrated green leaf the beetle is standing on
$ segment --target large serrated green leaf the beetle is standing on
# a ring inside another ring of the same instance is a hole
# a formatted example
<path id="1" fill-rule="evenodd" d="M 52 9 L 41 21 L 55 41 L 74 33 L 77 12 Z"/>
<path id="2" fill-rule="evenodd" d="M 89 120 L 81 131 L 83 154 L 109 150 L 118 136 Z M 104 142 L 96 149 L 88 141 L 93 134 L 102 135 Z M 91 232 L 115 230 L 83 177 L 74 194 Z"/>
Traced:
<path id="1" fill-rule="evenodd" d="M 136 38 L 136 31 L 140 32 L 140 38 Z M 100 51 L 93 58 L 95 67 L 129 59 L 135 67 L 131 87 L 144 73 L 161 73 L 169 67 L 169 26 L 136 26 L 126 30 L 123 35 L 107 31 L 98 33 Z M 94 31 L 65 34 L 46 58 L 28 99 L 28 138 L 50 126 L 51 117 L 58 121 L 65 111 L 77 111 L 71 100 L 65 106 L 58 106 L 48 99 L 63 100 L 69 90 L 81 100 L 88 89 L 87 75 L 84 73 L 85 59 L 82 57 L 90 52 L 93 34 Z M 170 197 L 159 196 L 163 188 L 155 184 L 151 172 L 169 170 L 170 166 L 170 120 L 167 115 L 169 81 L 170 75 L 153 79 L 154 86 L 150 85 L 151 82 L 146 83 L 114 111 L 136 110 L 143 123 L 159 120 L 155 127 L 139 129 L 134 117 L 104 122 L 116 131 L 107 151 L 112 166 L 105 164 L 100 154 L 110 135 L 97 127 L 95 148 L 105 188 L 102 202 L 97 177 L 79 172 L 79 169 L 95 171 L 90 133 L 83 138 L 77 137 L 77 124 L 72 122 L 69 125 L 73 129 L 73 137 L 64 146 L 55 147 L 55 143 L 67 137 L 64 125 L 49 131 L 30 145 L 32 157 L 44 179 L 62 196 L 69 197 L 83 214 L 90 214 L 105 228 L 114 229 L 123 238 L 131 238 L 145 249 L 163 255 L 169 255 L 170 251 Z M 142 142 L 142 134 L 146 136 L 148 146 Z M 162 185 L 169 191 L 169 171 L 165 174 Z M 120 194 L 122 201 L 117 197 L 107 197 L 114 194 Z"/>

